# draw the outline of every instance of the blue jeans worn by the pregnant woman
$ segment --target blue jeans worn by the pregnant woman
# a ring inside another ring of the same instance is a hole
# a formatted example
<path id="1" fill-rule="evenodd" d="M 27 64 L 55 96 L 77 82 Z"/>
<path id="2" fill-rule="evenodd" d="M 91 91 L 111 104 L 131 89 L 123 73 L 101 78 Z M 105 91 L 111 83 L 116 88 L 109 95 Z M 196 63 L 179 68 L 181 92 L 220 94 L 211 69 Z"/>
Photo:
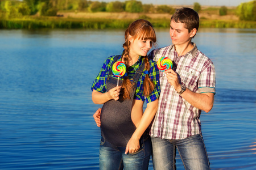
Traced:
<path id="1" fill-rule="evenodd" d="M 144 135 L 140 140 L 141 148 L 135 153 L 125 154 L 126 147 L 117 147 L 101 137 L 100 169 L 148 169 L 152 152 L 151 139 Z"/>

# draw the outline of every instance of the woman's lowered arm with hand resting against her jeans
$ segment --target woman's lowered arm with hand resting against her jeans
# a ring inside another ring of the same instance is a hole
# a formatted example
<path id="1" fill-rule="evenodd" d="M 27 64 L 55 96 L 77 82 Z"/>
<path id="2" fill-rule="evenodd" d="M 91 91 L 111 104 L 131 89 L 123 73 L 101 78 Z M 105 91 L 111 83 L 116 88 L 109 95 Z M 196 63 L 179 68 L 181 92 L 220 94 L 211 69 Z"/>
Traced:
<path id="1" fill-rule="evenodd" d="M 138 100 L 141 101 L 141 100 Z M 142 102 L 142 101 L 141 101 Z M 145 109 L 141 121 L 139 122 L 137 129 L 134 131 L 131 136 L 129 142 L 126 145 L 125 154 L 137 152 L 139 150 L 139 139 L 143 135 L 144 131 L 151 124 L 151 121 L 155 117 L 155 113 L 158 109 L 158 99 L 147 104 L 147 108 Z"/>

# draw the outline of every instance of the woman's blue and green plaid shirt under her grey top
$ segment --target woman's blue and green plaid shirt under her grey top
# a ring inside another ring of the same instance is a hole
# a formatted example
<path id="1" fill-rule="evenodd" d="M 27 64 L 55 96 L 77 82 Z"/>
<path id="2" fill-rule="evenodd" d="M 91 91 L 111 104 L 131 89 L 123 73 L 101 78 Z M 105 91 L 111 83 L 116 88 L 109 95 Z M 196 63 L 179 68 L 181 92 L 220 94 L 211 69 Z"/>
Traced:
<path id="1" fill-rule="evenodd" d="M 110 69 L 112 69 L 111 65 L 112 62 L 114 60 L 115 56 L 110 56 L 109 58 L 107 58 L 100 70 L 100 73 L 98 73 L 98 75 L 96 76 L 96 79 L 94 80 L 93 84 L 92 84 L 92 90 L 96 90 L 99 92 L 106 92 L 106 79 L 108 78 L 108 74 Z M 136 63 L 134 63 L 133 66 L 130 66 L 127 69 L 127 73 L 129 76 L 129 79 L 133 78 L 134 74 L 136 73 L 136 71 L 138 70 L 139 66 L 142 65 L 143 63 L 143 57 L 139 57 L 138 61 Z M 118 58 L 118 61 L 121 61 L 121 56 Z M 149 60 L 150 62 L 150 70 L 148 71 L 148 76 L 150 77 L 150 79 L 152 80 L 152 82 L 154 82 L 155 84 L 155 89 L 154 91 L 151 93 L 150 96 L 146 97 L 146 103 L 150 103 L 151 101 L 154 101 L 156 99 L 158 99 L 159 95 L 160 95 L 160 83 L 159 83 L 159 70 L 158 67 L 156 65 L 156 62 L 153 60 Z M 144 70 L 144 72 L 142 73 L 141 77 L 138 80 L 137 83 L 137 88 L 135 91 L 135 97 L 134 99 L 136 100 L 145 100 L 145 97 L 143 95 L 143 80 L 146 76 L 146 71 Z M 117 79 L 117 76 L 112 75 L 112 77 Z M 119 77 L 119 79 L 123 80 L 124 76 Z"/>

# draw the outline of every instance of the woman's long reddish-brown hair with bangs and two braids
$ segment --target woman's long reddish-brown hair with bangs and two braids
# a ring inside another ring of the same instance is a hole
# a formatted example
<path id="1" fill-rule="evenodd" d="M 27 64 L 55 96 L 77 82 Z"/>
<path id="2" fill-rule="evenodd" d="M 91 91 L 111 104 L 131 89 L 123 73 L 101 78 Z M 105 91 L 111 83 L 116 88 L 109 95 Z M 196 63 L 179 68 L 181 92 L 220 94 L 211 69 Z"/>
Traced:
<path id="1" fill-rule="evenodd" d="M 130 51 L 130 41 L 129 35 L 134 37 L 134 39 L 141 39 L 141 40 L 152 40 L 155 44 L 156 42 L 156 35 L 154 28 L 150 22 L 144 19 L 135 20 L 135 22 L 131 23 L 129 27 L 125 31 L 125 43 L 123 44 L 124 53 L 122 56 L 123 61 L 125 62 L 126 67 L 129 67 L 129 51 Z M 148 62 L 148 57 L 142 56 L 145 62 L 145 70 L 149 71 L 150 63 Z M 131 84 L 128 76 L 125 77 L 122 84 L 123 88 L 123 99 L 131 99 L 130 92 L 132 90 L 133 84 Z M 155 88 L 155 84 L 151 81 L 148 74 L 146 74 L 144 82 L 143 82 L 143 95 L 149 96 L 151 92 Z"/>

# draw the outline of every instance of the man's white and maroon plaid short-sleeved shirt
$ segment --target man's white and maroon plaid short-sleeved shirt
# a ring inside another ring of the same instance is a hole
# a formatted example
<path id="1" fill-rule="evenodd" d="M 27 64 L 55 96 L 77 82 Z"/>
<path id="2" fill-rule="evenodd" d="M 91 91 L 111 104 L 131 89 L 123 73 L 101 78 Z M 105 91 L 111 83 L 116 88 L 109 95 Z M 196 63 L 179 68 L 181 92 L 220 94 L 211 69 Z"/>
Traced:
<path id="1" fill-rule="evenodd" d="M 196 93 L 215 94 L 215 69 L 212 61 L 201 53 L 196 44 L 184 56 L 178 56 L 174 45 L 153 50 L 149 58 L 158 61 L 168 57 L 174 62 L 174 71 L 179 75 L 181 84 Z M 164 72 L 160 72 L 161 94 L 158 111 L 152 123 L 150 135 L 163 139 L 184 139 L 201 134 L 201 110 L 185 101 L 172 88 Z"/>

